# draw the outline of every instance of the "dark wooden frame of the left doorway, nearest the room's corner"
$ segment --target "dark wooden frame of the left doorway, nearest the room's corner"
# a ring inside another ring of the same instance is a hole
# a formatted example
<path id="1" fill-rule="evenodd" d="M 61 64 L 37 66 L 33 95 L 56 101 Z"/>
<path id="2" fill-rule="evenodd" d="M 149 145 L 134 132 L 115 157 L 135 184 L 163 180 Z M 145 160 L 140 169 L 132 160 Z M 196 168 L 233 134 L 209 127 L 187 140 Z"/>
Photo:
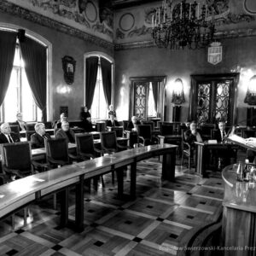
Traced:
<path id="1" fill-rule="evenodd" d="M 164 111 L 165 111 L 165 88 L 166 88 L 166 76 L 155 76 L 155 77 L 131 77 L 130 78 L 131 84 L 130 84 L 130 108 L 129 108 L 129 113 L 130 113 L 130 119 L 131 117 L 135 114 L 135 102 L 134 102 L 134 96 L 135 96 L 135 91 L 134 91 L 134 85 L 136 83 L 149 83 L 149 82 L 160 82 L 162 83 L 162 88 L 160 90 L 160 119 L 161 121 L 164 119 Z"/>

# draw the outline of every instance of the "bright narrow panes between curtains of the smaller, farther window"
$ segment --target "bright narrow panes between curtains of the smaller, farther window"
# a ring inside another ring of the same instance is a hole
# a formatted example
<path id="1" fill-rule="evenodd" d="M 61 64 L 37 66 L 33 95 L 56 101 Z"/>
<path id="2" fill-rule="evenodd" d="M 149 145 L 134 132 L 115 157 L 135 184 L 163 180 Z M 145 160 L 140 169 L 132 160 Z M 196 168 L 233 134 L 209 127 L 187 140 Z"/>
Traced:
<path id="1" fill-rule="evenodd" d="M 96 79 L 96 87 L 93 96 L 93 102 L 90 108 L 92 119 L 108 119 L 108 106 L 105 100 L 102 85 L 102 68 L 100 58 L 98 62 L 98 73 Z"/>

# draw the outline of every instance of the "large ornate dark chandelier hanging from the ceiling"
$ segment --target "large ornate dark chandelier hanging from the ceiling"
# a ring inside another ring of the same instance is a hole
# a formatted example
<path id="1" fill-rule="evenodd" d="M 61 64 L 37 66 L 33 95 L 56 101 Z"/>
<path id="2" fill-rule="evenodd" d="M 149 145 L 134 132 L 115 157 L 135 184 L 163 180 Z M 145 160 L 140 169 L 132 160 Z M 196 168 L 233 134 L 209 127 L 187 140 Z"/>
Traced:
<path id="1" fill-rule="evenodd" d="M 212 17 L 207 13 L 205 4 L 169 4 L 163 0 L 162 6 L 152 15 L 152 37 L 158 47 L 170 49 L 200 49 L 212 43 L 214 35 Z"/>

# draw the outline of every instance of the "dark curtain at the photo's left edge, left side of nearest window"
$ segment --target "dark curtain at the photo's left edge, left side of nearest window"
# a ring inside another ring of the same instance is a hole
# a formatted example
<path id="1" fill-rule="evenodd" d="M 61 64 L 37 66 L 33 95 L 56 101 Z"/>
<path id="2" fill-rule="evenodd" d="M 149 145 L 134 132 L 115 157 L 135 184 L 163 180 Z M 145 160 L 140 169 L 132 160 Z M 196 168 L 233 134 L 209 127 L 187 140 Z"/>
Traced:
<path id="1" fill-rule="evenodd" d="M 17 32 L 0 31 L 0 106 L 9 86 L 15 58 Z"/>

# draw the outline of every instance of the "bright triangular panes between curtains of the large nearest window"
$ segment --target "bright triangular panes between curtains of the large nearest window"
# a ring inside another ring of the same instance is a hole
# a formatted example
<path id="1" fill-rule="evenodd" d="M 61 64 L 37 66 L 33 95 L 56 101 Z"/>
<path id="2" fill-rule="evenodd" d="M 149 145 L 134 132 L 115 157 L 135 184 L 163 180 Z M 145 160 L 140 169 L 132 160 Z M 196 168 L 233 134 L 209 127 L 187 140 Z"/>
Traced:
<path id="1" fill-rule="evenodd" d="M 1 120 L 3 122 L 15 121 L 18 112 L 23 114 L 25 121 L 37 121 L 42 118 L 41 110 L 33 100 L 24 65 L 20 46 L 17 44 L 9 87 L 1 106 Z"/>

